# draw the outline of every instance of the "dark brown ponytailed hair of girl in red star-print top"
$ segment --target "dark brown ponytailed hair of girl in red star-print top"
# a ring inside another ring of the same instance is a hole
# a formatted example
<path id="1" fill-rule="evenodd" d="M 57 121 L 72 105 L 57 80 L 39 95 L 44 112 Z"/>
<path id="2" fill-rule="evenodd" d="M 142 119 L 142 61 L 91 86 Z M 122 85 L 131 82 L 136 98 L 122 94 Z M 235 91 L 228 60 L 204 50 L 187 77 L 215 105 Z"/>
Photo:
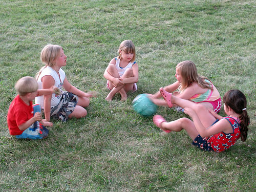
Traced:
<path id="1" fill-rule="evenodd" d="M 250 122 L 250 117 L 247 114 L 246 110 L 246 97 L 239 90 L 230 90 L 225 93 L 223 97 L 223 102 L 225 105 L 229 106 L 235 113 L 239 114 L 238 118 L 240 119 L 240 132 L 241 140 L 245 141 L 247 138 L 248 125 Z"/>

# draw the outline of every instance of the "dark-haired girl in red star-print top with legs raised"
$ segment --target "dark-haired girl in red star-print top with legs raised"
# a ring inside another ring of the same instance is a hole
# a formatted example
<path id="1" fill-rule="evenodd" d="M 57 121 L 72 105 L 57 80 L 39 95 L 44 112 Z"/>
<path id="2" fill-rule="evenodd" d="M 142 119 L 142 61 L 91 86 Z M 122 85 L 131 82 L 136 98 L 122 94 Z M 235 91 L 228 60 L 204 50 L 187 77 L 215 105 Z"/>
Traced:
<path id="1" fill-rule="evenodd" d="M 180 118 L 166 122 L 161 115 L 155 115 L 153 122 L 165 133 L 185 130 L 193 139 L 193 145 L 215 152 L 227 150 L 240 137 L 242 141 L 246 140 L 250 119 L 246 111 L 246 97 L 241 91 L 230 90 L 224 95 L 224 110 L 228 115 L 224 118 L 204 105 L 178 98 L 163 88 L 160 88 L 160 93 L 170 108 L 178 104 L 193 119 Z"/>

